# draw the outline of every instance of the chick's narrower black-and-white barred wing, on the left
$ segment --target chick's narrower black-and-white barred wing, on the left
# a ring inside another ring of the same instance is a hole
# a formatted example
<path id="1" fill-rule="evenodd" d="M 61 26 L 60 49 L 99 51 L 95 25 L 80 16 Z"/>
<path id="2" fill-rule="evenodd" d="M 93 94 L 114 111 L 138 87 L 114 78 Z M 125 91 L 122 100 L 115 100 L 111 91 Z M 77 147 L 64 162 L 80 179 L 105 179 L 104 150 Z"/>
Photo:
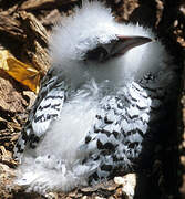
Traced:
<path id="1" fill-rule="evenodd" d="M 41 83 L 39 95 L 14 147 L 14 158 L 20 158 L 25 146 L 35 148 L 51 122 L 60 116 L 65 85 L 64 81 L 53 73 L 54 71 L 50 69 Z"/>

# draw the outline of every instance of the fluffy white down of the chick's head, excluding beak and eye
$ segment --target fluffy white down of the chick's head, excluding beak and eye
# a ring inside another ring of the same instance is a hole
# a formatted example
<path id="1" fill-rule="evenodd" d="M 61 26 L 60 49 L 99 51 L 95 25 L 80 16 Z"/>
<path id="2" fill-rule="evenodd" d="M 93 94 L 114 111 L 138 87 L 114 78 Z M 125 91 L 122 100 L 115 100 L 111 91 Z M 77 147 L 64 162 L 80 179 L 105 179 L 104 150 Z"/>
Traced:
<path id="1" fill-rule="evenodd" d="M 85 75 L 84 67 L 76 60 L 81 60 L 86 51 L 94 49 L 97 43 L 109 43 L 109 41 L 116 39 L 116 35 L 123 34 L 141 35 L 155 40 L 155 35 L 150 29 L 138 24 L 117 23 L 114 21 L 110 9 L 99 2 L 89 3 L 85 1 L 82 9 L 75 10 L 75 15 L 62 20 L 62 24 L 55 28 L 50 45 L 53 64 L 62 63 L 59 65 L 59 70 L 65 71 L 76 85 L 76 82 L 84 81 L 82 74 Z M 156 64 L 156 57 L 157 62 L 161 63 L 160 65 Z M 119 80 L 127 82 L 140 80 L 143 73 L 165 69 L 165 61 L 168 62 L 168 59 L 164 46 L 158 41 L 154 41 L 147 45 L 131 49 L 126 56 L 104 63 L 105 67 L 99 67 L 99 64 L 92 63 L 93 66 L 90 65 L 86 70 L 100 81 L 111 80 L 117 83 Z M 71 61 L 70 64 L 69 60 Z"/>

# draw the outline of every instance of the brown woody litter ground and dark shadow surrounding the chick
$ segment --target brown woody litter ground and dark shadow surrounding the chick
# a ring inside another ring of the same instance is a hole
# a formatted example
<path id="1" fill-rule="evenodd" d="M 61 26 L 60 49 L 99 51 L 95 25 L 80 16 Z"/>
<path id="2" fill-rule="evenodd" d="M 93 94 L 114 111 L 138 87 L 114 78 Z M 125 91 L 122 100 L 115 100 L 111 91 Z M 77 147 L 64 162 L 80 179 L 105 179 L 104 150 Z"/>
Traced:
<path id="1" fill-rule="evenodd" d="M 103 1 L 103 0 L 102 0 Z M 107 0 L 116 20 L 138 22 L 151 27 L 175 56 L 179 65 L 179 101 L 177 114 L 176 143 L 167 164 L 156 159 L 154 169 L 147 177 L 130 174 L 117 177 L 106 185 L 76 189 L 68 195 L 50 192 L 48 196 L 27 193 L 13 185 L 14 169 L 12 148 L 18 139 L 31 105 L 35 100 L 38 83 L 50 67 L 48 38 L 52 27 L 64 15 L 72 13 L 79 0 L 1 0 L 0 1 L 0 199 L 39 198 L 185 198 L 185 2 L 183 0 Z M 8 53 L 7 53 L 8 52 Z M 18 76 L 4 70 L 3 61 L 12 57 L 13 65 L 19 62 L 30 64 L 34 70 L 33 85 L 22 84 Z M 32 90 L 32 91 L 31 91 Z M 34 92 L 33 92 L 34 91 Z M 171 163 L 171 160 L 173 163 Z M 168 168 L 174 167 L 174 175 Z M 167 175 L 163 172 L 166 171 Z M 167 177 L 166 177 L 167 176 Z M 135 197 L 130 190 L 135 192 Z"/>

